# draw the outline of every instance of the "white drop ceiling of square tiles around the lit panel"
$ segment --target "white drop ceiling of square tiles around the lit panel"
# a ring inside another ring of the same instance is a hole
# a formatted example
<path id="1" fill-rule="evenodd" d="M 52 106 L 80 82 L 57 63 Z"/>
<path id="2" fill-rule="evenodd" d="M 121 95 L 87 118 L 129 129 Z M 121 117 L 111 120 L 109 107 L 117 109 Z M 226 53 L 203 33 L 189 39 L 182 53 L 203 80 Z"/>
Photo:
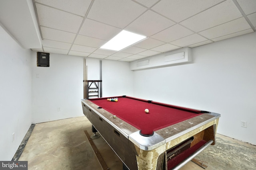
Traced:
<path id="1" fill-rule="evenodd" d="M 134 61 L 256 31 L 256 0 L 34 0 L 41 48 L 34 51 Z M 100 49 L 120 31 L 147 39 Z"/>

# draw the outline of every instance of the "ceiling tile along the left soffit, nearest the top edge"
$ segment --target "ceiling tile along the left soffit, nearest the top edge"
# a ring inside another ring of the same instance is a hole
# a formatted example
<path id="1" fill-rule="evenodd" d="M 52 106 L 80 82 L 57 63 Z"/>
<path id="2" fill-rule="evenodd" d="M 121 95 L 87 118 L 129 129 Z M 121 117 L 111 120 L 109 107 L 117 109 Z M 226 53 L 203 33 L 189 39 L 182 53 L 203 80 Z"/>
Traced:
<path id="1" fill-rule="evenodd" d="M 39 23 L 42 26 L 77 33 L 83 18 L 68 12 L 36 3 Z"/>

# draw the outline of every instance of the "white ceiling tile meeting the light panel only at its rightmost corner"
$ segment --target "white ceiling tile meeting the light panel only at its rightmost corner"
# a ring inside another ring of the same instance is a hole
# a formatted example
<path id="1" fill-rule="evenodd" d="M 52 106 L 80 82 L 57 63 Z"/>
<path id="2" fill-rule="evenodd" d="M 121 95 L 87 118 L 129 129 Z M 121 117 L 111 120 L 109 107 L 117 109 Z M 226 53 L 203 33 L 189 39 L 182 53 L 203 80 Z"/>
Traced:
<path id="1" fill-rule="evenodd" d="M 176 24 L 151 37 L 168 43 L 191 34 L 194 34 L 194 32 L 190 31 L 189 29 L 186 29 L 185 27 L 179 24 Z"/>

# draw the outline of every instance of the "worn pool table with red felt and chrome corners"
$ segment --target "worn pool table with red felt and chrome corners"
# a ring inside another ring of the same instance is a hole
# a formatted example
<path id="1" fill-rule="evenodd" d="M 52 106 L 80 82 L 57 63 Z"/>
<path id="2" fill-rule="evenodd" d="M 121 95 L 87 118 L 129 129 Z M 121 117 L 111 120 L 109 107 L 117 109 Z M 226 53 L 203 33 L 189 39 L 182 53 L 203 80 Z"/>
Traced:
<path id="1" fill-rule="evenodd" d="M 109 98 L 118 101 L 110 102 Z M 83 99 L 82 109 L 130 170 L 180 168 L 215 144 L 220 117 L 218 113 L 130 96 Z"/>

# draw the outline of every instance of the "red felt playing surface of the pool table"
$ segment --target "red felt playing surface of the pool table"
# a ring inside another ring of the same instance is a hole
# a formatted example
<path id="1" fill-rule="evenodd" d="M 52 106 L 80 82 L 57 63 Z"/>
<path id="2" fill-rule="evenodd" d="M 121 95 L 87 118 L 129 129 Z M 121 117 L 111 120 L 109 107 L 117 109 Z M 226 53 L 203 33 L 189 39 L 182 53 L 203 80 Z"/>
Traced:
<path id="1" fill-rule="evenodd" d="M 122 98 L 122 96 L 118 97 L 118 102 L 109 102 L 107 98 L 90 99 L 90 101 L 140 129 L 144 135 L 151 135 L 153 131 L 202 114 L 199 110 L 156 102 L 148 103 L 147 100 Z M 149 113 L 145 113 L 145 109 L 149 109 Z"/>

